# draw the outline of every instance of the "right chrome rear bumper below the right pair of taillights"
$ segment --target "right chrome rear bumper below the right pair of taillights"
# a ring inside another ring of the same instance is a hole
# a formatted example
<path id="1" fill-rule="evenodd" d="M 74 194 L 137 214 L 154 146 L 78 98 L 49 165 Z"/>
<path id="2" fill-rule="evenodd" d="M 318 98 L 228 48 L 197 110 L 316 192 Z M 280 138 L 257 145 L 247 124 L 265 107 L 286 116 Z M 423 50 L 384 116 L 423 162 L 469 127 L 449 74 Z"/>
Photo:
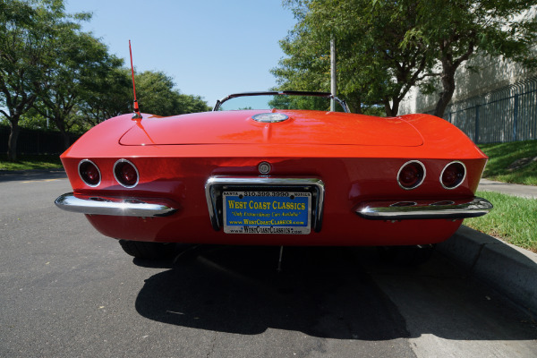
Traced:
<path id="1" fill-rule="evenodd" d="M 395 201 L 364 202 L 357 209 L 356 214 L 370 220 L 409 220 L 428 218 L 467 218 L 481 217 L 493 208 L 489 200 L 474 197 L 459 203 L 447 205 L 431 205 L 431 203 L 417 201 L 416 206 L 394 207 Z M 438 201 L 437 201 L 438 202 Z M 434 202 L 432 202 L 434 204 Z"/>

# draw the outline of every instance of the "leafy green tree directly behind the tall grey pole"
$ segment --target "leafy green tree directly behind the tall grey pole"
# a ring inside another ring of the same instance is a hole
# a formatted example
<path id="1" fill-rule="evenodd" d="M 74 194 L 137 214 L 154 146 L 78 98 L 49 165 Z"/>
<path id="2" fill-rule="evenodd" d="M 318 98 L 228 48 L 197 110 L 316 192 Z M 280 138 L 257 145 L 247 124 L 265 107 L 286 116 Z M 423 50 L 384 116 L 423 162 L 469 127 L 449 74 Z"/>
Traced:
<path id="1" fill-rule="evenodd" d="M 286 1 L 299 22 L 280 42 L 290 56 L 273 70 L 280 85 L 309 81 L 327 90 L 329 38 L 335 38 L 339 94 L 349 107 L 360 113 L 363 104 L 381 105 L 387 115 L 396 115 L 408 90 L 427 77 L 432 60 L 420 38 L 406 37 L 401 46 L 416 23 L 414 2 L 384 3 L 380 8 L 370 0 Z"/>

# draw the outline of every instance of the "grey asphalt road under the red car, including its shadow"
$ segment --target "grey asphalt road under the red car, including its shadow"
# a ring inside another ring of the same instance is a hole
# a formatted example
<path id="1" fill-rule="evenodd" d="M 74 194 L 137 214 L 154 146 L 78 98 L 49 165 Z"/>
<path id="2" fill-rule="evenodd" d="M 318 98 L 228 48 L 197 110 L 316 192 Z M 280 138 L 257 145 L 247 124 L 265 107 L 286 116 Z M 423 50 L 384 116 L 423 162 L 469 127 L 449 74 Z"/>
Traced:
<path id="1" fill-rule="evenodd" d="M 201 247 L 132 260 L 56 209 L 61 173 L 0 175 L 1 357 L 535 357 L 537 323 L 439 254 Z M 200 199 L 202 200 L 202 199 Z M 208 223 L 209 224 L 209 223 Z"/>

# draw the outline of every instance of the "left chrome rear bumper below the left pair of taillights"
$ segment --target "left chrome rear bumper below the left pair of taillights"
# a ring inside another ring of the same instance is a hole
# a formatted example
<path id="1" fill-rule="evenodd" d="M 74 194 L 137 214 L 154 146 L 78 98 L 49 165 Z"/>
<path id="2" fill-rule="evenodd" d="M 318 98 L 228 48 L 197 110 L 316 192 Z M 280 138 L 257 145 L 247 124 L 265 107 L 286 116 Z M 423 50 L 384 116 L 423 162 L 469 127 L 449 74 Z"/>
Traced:
<path id="1" fill-rule="evenodd" d="M 112 215 L 117 217 L 166 217 L 177 211 L 162 203 L 148 203 L 137 199 L 112 201 L 107 198 L 89 197 L 81 199 L 72 192 L 60 195 L 55 205 L 63 210 L 90 215 Z"/>

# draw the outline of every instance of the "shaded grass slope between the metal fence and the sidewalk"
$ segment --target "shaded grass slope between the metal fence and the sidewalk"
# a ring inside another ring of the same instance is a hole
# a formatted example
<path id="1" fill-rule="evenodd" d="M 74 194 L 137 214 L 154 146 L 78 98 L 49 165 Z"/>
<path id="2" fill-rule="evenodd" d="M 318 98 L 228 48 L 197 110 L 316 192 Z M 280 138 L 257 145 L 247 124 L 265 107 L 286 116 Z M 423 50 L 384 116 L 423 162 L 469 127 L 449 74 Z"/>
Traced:
<path id="1" fill-rule="evenodd" d="M 482 144 L 479 147 L 489 156 L 483 176 L 504 183 L 537 185 L 537 141 Z M 516 163 L 519 164 L 514 165 Z"/>

